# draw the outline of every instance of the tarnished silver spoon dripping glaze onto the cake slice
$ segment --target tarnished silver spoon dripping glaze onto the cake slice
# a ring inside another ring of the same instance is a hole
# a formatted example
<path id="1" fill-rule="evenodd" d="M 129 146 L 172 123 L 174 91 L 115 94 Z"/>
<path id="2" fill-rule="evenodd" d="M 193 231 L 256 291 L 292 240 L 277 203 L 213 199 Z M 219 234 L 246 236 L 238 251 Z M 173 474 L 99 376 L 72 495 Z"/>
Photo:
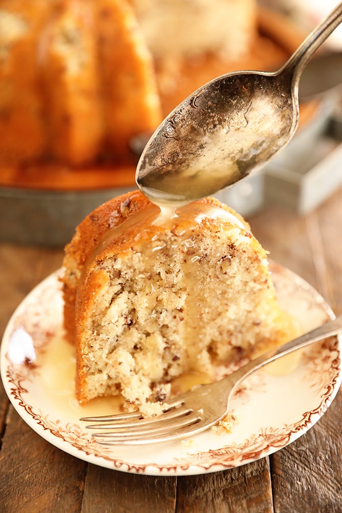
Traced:
<path id="1" fill-rule="evenodd" d="M 298 126 L 298 84 L 312 54 L 342 22 L 342 3 L 276 72 L 215 78 L 180 103 L 140 156 L 136 183 L 154 203 L 182 205 L 265 166 Z"/>

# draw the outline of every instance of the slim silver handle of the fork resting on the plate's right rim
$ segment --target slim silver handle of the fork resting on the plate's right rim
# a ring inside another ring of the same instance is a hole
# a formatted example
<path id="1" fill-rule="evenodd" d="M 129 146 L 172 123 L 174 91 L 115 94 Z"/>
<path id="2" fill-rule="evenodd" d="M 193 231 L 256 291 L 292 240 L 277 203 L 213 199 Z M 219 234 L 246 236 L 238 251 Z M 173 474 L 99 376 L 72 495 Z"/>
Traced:
<path id="1" fill-rule="evenodd" d="M 297 337 L 286 344 L 279 346 L 275 351 L 270 350 L 264 354 L 261 354 L 254 360 L 251 360 L 246 365 L 243 365 L 239 369 L 234 372 L 234 377 L 239 383 L 243 379 L 247 378 L 249 374 L 252 374 L 257 369 L 264 367 L 268 363 L 277 360 L 289 354 L 297 349 L 301 349 L 303 347 L 309 346 L 314 342 L 318 342 L 319 340 L 325 339 L 327 337 L 331 337 L 332 335 L 336 335 L 342 331 L 342 315 L 336 317 L 332 321 L 328 321 L 327 323 L 315 328 L 308 333 L 304 333 L 300 337 Z"/>

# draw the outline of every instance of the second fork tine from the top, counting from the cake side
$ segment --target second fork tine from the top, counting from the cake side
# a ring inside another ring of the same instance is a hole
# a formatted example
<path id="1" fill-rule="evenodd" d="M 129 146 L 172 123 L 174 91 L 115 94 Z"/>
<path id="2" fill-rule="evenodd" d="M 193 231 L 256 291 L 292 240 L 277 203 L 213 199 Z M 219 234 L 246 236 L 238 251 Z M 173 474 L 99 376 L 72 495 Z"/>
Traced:
<path id="1" fill-rule="evenodd" d="M 147 419 L 142 418 L 141 416 L 137 420 L 125 422 L 120 419 L 111 418 L 111 422 L 106 424 L 91 424 L 86 426 L 87 429 L 127 429 L 130 428 L 132 431 L 137 430 L 140 431 L 142 429 L 151 429 L 152 427 L 157 427 L 159 424 L 165 425 L 166 422 L 172 422 L 179 418 L 190 415 L 193 412 L 191 408 L 186 407 L 185 405 L 179 406 L 178 408 L 171 408 L 165 410 L 165 413 L 162 415 L 156 415 L 155 417 L 148 417 Z"/>

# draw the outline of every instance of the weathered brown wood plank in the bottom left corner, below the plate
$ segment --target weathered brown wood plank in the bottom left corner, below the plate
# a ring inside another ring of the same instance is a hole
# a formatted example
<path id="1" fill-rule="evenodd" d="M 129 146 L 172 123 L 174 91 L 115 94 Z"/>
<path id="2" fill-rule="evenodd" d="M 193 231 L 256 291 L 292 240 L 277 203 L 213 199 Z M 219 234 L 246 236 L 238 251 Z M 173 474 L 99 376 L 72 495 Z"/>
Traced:
<path id="1" fill-rule="evenodd" d="M 81 510 L 86 465 L 39 437 L 11 406 L 0 452 L 0 510 Z"/>

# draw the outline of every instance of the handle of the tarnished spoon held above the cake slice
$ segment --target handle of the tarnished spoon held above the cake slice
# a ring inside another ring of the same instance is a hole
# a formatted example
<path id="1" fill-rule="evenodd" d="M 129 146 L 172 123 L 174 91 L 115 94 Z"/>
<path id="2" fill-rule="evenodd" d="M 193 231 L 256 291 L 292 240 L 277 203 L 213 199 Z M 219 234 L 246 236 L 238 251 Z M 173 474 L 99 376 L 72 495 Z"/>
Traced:
<path id="1" fill-rule="evenodd" d="M 279 70 L 279 74 L 290 73 L 292 83 L 298 85 L 301 72 L 313 53 L 325 42 L 329 35 L 342 22 L 342 2 L 321 21 L 305 38 L 303 43 L 291 55 L 287 63 Z"/>

